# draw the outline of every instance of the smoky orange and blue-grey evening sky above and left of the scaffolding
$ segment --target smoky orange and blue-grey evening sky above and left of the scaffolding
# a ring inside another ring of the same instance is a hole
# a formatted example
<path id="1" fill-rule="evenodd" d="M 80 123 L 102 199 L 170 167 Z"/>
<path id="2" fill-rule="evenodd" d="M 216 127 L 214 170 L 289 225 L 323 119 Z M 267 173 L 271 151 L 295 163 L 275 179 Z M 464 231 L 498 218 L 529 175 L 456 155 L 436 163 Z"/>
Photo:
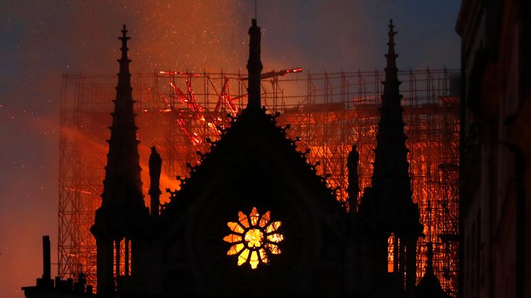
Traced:
<path id="1" fill-rule="evenodd" d="M 259 1 L 264 71 L 384 66 L 392 18 L 398 67 L 458 68 L 457 0 Z M 252 0 L 0 0 L 0 296 L 41 273 L 41 235 L 57 259 L 61 77 L 113 74 L 127 23 L 131 69 L 245 69 Z M 53 266 L 53 275 L 57 268 Z"/>

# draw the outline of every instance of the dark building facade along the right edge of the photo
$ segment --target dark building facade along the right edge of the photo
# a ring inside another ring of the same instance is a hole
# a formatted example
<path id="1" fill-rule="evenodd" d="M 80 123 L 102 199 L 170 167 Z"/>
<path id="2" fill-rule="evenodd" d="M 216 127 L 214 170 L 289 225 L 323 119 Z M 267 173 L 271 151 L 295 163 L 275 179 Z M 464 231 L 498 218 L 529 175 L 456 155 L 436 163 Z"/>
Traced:
<path id="1" fill-rule="evenodd" d="M 461 297 L 531 297 L 531 2 L 464 0 Z"/>

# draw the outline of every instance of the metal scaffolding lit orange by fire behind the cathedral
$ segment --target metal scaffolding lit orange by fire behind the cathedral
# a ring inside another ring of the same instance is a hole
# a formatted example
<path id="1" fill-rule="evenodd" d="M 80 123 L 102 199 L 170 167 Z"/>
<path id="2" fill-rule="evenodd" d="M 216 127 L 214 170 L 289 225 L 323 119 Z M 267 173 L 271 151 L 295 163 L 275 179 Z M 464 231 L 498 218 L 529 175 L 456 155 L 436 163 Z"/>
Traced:
<path id="1" fill-rule="evenodd" d="M 448 294 L 456 295 L 458 246 L 459 99 L 457 70 L 399 72 L 404 96 L 413 200 L 419 204 L 425 237 L 418 243 L 418 279 L 427 243 L 434 246 L 434 270 Z M 244 74 L 158 72 L 133 74 L 133 98 L 142 181 L 149 181 L 150 146 L 163 159 L 161 188 L 178 189 L 177 175 L 206 152 L 207 139 L 218 137 L 247 103 Z M 384 72 L 296 73 L 262 80 L 262 103 L 290 123 L 288 135 L 300 137 L 297 148 L 320 162 L 337 199 L 346 202 L 346 157 L 353 144 L 360 151 L 360 188 L 371 183 Z M 115 97 L 115 76 L 63 76 L 59 141 L 59 276 L 81 270 L 95 283 L 95 240 L 89 228 L 100 206 L 104 166 Z M 147 193 L 148 185 L 144 191 Z M 168 200 L 162 196 L 163 200 Z M 149 199 L 146 199 L 149 206 Z M 356 208 L 350 206 L 348 208 Z"/>

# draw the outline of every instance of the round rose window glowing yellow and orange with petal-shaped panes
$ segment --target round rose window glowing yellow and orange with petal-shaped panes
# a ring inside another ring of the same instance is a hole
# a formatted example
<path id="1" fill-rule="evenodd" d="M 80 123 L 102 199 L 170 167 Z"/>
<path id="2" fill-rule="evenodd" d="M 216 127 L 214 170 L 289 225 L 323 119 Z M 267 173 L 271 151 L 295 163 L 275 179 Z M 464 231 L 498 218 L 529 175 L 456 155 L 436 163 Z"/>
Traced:
<path id="1" fill-rule="evenodd" d="M 265 212 L 261 217 L 254 207 L 249 216 L 238 212 L 238 222 L 229 222 L 232 234 L 223 240 L 232 244 L 227 255 L 238 257 L 238 266 L 248 262 L 252 269 L 256 269 L 259 263 L 269 264 L 268 255 L 279 255 L 281 250 L 277 245 L 284 239 L 277 232 L 281 225 L 280 221 L 270 221 L 271 212 Z"/>

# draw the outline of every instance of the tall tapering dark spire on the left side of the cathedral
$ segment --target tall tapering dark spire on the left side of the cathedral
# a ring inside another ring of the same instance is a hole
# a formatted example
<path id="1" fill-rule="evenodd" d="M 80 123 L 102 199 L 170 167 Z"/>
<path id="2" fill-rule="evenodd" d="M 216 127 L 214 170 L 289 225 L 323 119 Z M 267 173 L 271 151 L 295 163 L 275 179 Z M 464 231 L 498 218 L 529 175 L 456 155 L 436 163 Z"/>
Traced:
<path id="1" fill-rule="evenodd" d="M 131 88 L 131 74 L 129 73 L 129 63 L 127 57 L 127 41 L 131 37 L 127 36 L 125 25 L 122 29 L 122 36 L 118 37 L 122 41 L 122 56 L 118 59 L 120 72 L 118 72 L 118 85 L 116 86 L 116 99 L 114 102 L 114 112 L 109 143 L 109 153 L 107 154 L 107 165 L 105 167 L 105 179 L 103 181 L 104 190 L 102 194 L 102 207 L 106 220 L 113 222 L 113 225 L 102 226 L 106 232 L 113 237 L 127 237 L 131 232 L 131 221 L 137 212 L 144 212 L 144 199 L 142 195 L 142 181 L 140 180 L 140 157 L 138 155 L 138 139 L 136 139 L 135 125 L 136 115 L 133 112 L 133 101 Z M 103 213 L 102 213 L 103 214 Z M 98 222 L 95 222 L 98 226 Z M 111 228 L 111 230 L 108 230 Z M 98 230 L 98 229 L 96 229 Z"/>

